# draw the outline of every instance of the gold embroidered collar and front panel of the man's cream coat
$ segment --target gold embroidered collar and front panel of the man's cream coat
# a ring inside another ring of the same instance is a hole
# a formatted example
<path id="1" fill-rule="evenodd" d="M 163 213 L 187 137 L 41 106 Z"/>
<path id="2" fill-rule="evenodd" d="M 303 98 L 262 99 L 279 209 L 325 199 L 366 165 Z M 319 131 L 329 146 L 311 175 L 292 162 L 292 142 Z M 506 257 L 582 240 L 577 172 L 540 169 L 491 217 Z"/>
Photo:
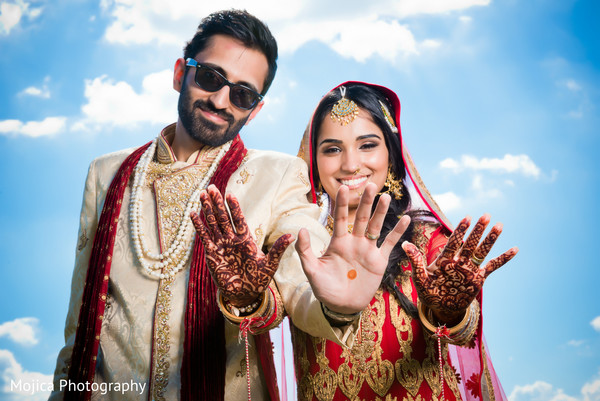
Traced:
<path id="1" fill-rule="evenodd" d="M 186 218 L 184 213 L 187 201 L 208 172 L 218 150 L 218 148 L 202 149 L 198 164 L 192 164 L 179 170 L 174 169 L 170 164 L 151 162 L 148 165 L 146 185 L 152 185 L 154 188 L 161 249 L 168 249 L 175 240 L 179 225 Z M 163 273 L 167 273 L 175 267 L 167 266 L 163 269 Z M 161 279 L 156 298 L 150 391 L 153 400 L 159 401 L 165 399 L 164 393 L 169 383 L 171 365 L 169 317 L 173 298 L 171 285 L 174 280 L 173 276 Z"/>

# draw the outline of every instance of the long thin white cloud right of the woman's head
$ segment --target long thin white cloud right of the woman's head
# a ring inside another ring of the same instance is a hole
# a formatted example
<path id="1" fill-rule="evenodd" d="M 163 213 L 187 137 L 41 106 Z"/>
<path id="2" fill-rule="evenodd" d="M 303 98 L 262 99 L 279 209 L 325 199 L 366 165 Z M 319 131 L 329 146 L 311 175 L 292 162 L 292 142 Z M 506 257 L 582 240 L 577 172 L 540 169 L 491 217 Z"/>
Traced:
<path id="1" fill-rule="evenodd" d="M 460 161 L 447 158 L 440 162 L 440 167 L 459 173 L 463 170 L 492 171 L 496 173 L 518 173 L 526 177 L 539 178 L 541 170 L 527 155 L 506 154 L 502 159 L 481 158 L 462 155 Z"/>

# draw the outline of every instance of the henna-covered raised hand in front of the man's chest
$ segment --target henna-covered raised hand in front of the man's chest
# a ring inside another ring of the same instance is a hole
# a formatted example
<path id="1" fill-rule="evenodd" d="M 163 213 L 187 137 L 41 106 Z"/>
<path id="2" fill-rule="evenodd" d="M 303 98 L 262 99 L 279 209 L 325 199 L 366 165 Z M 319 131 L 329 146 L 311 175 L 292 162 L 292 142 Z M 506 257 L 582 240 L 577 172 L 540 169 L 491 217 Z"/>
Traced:
<path id="1" fill-rule="evenodd" d="M 226 198 L 231 219 L 214 185 L 200 194 L 205 224 L 194 212 L 191 218 L 217 287 L 233 306 L 244 307 L 265 291 L 281 255 L 294 238 L 291 234 L 282 235 L 265 255 L 256 246 L 235 196 L 228 194 Z"/>

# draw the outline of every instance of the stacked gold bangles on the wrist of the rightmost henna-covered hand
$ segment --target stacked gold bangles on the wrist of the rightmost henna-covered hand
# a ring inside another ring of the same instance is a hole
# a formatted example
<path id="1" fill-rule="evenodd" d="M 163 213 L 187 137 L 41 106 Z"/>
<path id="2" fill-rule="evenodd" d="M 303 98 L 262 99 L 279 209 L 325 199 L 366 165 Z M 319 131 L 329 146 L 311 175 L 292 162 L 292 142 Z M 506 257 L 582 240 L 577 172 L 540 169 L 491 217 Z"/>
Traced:
<path id="1" fill-rule="evenodd" d="M 432 335 L 439 332 L 440 326 L 443 326 L 437 322 L 433 317 L 433 311 L 423 305 L 420 301 L 417 302 L 417 309 L 419 311 L 419 318 L 423 327 Z M 471 305 L 467 308 L 465 316 L 454 327 L 448 327 L 445 331 L 445 335 L 441 337 L 441 340 L 445 343 L 453 345 L 465 345 L 468 343 L 479 323 L 479 302 L 476 300 L 471 302 Z"/>

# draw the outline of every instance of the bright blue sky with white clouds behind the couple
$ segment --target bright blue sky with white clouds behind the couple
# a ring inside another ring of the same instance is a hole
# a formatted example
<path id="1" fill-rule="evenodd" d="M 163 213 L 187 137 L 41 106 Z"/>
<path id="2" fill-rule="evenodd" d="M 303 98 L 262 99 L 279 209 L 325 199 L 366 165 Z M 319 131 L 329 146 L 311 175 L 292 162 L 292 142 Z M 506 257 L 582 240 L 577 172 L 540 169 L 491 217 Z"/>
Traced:
<path id="1" fill-rule="evenodd" d="M 389 86 L 454 223 L 504 223 L 484 330 L 512 401 L 600 400 L 600 6 L 573 0 L 0 0 L 0 399 L 63 344 L 89 162 L 176 118 L 172 68 L 201 17 L 246 7 L 280 46 L 248 147 L 295 153 L 339 82 Z M 375 2 L 373 2 L 375 3 Z M 291 361 L 288 361 L 291 365 Z"/>

